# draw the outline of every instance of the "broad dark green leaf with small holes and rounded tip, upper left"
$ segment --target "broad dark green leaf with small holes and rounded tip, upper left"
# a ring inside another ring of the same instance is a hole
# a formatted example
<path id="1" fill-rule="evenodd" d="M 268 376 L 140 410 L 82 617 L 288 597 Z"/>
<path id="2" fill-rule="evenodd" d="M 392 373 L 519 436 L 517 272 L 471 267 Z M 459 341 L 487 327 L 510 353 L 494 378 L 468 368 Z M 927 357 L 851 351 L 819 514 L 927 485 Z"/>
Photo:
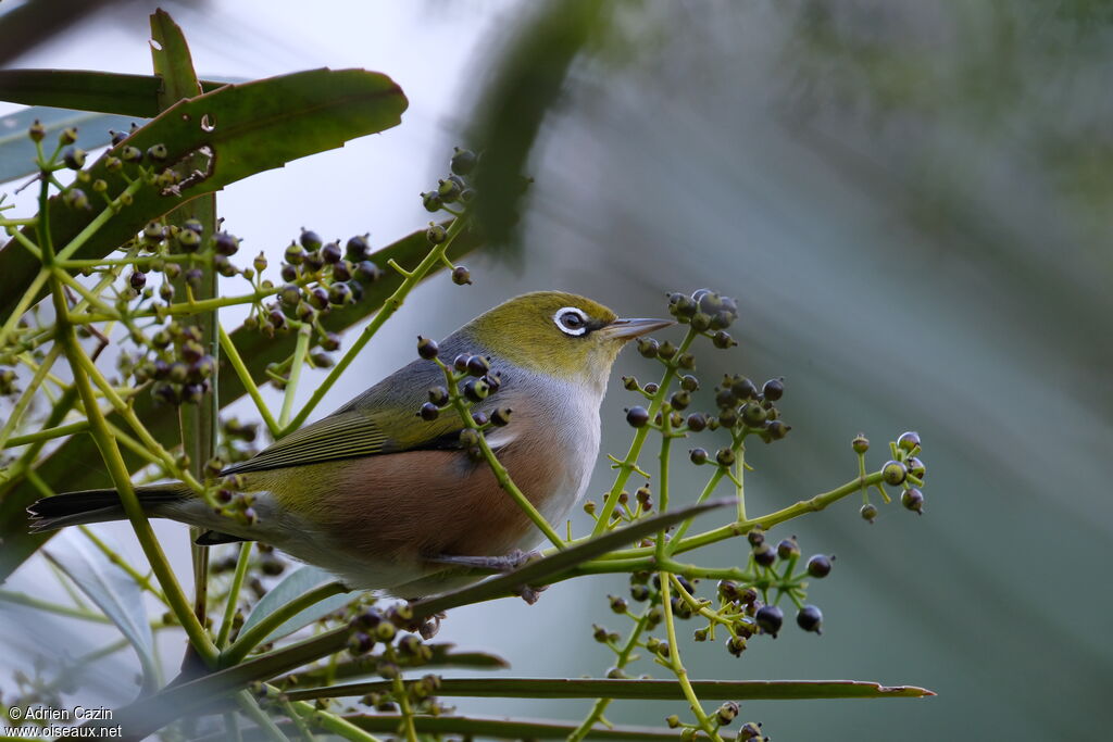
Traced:
<path id="1" fill-rule="evenodd" d="M 127 145 L 141 151 L 165 145 L 169 164 L 204 155 L 204 169 L 184 174 L 188 177 L 176 192 L 140 188 L 134 202 L 108 218 L 71 257 L 104 257 L 134 238 L 148 221 L 190 199 L 290 160 L 342 147 L 355 137 L 397 126 L 406 105 L 402 90 L 388 77 L 355 69 L 295 72 L 228 85 L 183 100 L 136 130 Z M 114 152 L 109 150 L 108 155 Z M 88 171 L 92 179 L 105 180 L 106 194 L 115 198 L 128 181 L 122 172 L 108 170 L 108 155 Z M 58 250 L 65 249 L 96 216 L 69 209 L 53 197 L 50 233 Z M 33 239 L 33 231 L 28 228 L 24 234 Z M 12 311 L 40 267 L 14 238 L 0 249 L 0 316 Z"/>

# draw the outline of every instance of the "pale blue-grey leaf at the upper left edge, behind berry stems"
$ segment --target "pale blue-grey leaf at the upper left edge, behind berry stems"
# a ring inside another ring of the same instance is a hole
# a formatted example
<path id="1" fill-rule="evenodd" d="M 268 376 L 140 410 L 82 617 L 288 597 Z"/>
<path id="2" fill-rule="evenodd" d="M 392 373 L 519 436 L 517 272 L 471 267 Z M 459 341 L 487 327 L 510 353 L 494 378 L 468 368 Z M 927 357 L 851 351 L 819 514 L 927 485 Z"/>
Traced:
<path id="1" fill-rule="evenodd" d="M 0 75 L 3 72 L 0 71 Z M 27 136 L 31 123 L 39 121 L 47 131 L 46 141 L 57 141 L 62 129 L 78 130 L 77 145 L 85 150 L 104 147 L 111 140 L 109 129 L 127 131 L 135 118 L 110 113 L 90 113 L 67 108 L 39 106 L 0 117 L 0 182 L 23 178 L 38 171 L 35 142 Z M 137 122 L 141 123 L 142 120 Z"/>

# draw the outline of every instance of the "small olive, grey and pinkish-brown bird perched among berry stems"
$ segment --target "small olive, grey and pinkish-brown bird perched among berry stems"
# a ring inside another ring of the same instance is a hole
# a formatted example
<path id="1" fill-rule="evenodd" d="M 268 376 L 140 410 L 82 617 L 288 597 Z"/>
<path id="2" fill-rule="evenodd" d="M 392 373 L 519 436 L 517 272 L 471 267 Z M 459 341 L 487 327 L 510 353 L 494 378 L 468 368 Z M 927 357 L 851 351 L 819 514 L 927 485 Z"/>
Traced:
<path id="1" fill-rule="evenodd" d="M 611 365 L 630 339 L 671 325 L 620 319 L 590 299 L 525 294 L 476 317 L 439 344 L 440 356 L 477 356 L 498 393 L 476 403 L 510 408 L 487 442 L 550 523 L 583 495 L 599 453 L 599 408 Z M 460 443 L 455 410 L 418 414 L 445 384 L 421 358 L 333 414 L 220 474 L 253 493 L 257 522 L 221 515 L 181 483 L 138 487 L 150 517 L 206 528 L 198 543 L 260 541 L 323 567 L 353 590 L 423 597 L 477 580 L 460 565 L 496 563 L 536 546 L 541 532 Z M 28 508 L 36 531 L 125 518 L 116 489 L 71 492 Z"/>

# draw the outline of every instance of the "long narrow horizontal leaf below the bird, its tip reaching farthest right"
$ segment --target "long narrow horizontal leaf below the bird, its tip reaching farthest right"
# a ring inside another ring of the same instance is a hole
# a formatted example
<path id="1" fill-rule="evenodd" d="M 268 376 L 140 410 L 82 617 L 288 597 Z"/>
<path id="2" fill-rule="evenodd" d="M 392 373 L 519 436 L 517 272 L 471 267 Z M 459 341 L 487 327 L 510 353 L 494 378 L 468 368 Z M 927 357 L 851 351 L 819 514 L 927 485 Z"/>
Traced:
<path id="1" fill-rule="evenodd" d="M 731 701 L 802 699 L 920 699 L 935 695 L 915 685 L 880 685 L 856 680 L 693 680 L 699 698 Z M 366 695 L 391 690 L 388 681 L 287 691 L 290 701 Z M 573 677 L 446 677 L 437 695 L 509 699 L 634 699 L 683 701 L 674 680 L 585 680 Z"/>

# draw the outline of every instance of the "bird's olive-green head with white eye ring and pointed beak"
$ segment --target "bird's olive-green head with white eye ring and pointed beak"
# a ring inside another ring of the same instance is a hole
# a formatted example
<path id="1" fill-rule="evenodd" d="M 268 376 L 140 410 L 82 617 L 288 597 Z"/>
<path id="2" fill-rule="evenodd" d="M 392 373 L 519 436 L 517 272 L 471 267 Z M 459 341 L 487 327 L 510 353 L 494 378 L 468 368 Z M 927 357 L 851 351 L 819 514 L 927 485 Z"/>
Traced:
<path id="1" fill-rule="evenodd" d="M 623 319 L 582 296 L 536 291 L 500 304 L 463 332 L 516 366 L 605 385 L 627 342 L 671 324 L 668 319 Z"/>

